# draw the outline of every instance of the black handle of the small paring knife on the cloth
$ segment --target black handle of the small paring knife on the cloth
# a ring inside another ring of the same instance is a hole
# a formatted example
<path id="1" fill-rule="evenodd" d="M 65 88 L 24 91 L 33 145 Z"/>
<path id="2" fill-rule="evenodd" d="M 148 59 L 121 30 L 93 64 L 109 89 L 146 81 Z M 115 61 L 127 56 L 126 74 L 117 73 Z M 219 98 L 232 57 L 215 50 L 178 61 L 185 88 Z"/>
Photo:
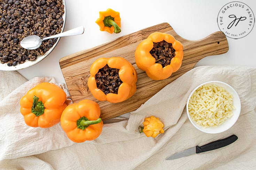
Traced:
<path id="1" fill-rule="evenodd" d="M 237 139 L 238 139 L 237 136 L 231 135 L 230 137 L 227 137 L 225 139 L 216 140 L 216 141 L 213 141 L 209 144 L 205 144 L 203 146 L 196 146 L 195 151 L 196 151 L 196 153 L 212 151 L 214 149 L 218 149 L 218 148 L 227 146 L 229 144 L 232 144 Z"/>

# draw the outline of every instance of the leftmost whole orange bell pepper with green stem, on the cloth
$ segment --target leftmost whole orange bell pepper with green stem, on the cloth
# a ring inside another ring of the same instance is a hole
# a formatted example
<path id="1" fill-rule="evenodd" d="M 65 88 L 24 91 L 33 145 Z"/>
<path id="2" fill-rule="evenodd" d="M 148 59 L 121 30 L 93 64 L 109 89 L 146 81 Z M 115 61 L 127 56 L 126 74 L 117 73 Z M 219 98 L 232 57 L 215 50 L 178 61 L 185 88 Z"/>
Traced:
<path id="1" fill-rule="evenodd" d="M 49 128 L 60 122 L 65 104 L 65 92 L 55 84 L 40 83 L 20 100 L 21 114 L 28 126 Z"/>

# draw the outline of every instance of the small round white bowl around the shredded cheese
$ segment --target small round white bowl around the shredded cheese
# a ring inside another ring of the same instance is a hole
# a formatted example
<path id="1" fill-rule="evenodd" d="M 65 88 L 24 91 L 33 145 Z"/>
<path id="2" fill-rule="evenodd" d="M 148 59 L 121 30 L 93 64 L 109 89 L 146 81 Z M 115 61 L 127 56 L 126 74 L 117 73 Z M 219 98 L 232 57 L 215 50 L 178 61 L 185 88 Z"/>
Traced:
<path id="1" fill-rule="evenodd" d="M 235 109 L 233 109 L 233 116 L 231 116 L 231 118 L 228 118 L 227 120 L 225 120 L 221 125 L 219 125 L 218 127 L 208 127 L 208 128 L 204 128 L 203 126 L 199 125 L 196 123 L 196 121 L 194 121 L 189 113 L 188 113 L 188 103 L 189 100 L 191 98 L 191 96 L 193 95 L 193 93 L 201 86 L 203 86 L 204 84 L 215 84 L 216 86 L 222 86 L 225 88 L 226 91 L 228 91 L 231 95 L 233 95 L 233 105 L 235 107 Z M 235 91 L 235 89 L 233 87 L 231 87 L 230 85 L 228 85 L 227 83 L 221 82 L 221 81 L 208 81 L 205 82 L 203 84 L 200 84 L 199 86 L 197 86 L 189 95 L 188 99 L 187 99 L 187 115 L 188 115 L 188 119 L 190 120 L 190 122 L 193 124 L 193 126 L 205 133 L 221 133 L 224 132 L 226 130 L 228 130 L 229 128 L 231 128 L 235 122 L 237 121 L 239 115 L 240 115 L 240 111 L 241 111 L 241 102 L 240 102 L 240 98 L 237 94 L 237 92 Z"/>

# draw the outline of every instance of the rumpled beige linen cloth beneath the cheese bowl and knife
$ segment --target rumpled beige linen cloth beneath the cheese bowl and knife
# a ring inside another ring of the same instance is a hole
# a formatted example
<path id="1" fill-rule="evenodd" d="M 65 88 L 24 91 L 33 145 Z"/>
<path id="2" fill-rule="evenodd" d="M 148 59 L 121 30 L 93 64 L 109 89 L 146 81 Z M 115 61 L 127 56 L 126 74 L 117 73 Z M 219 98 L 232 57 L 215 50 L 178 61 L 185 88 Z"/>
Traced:
<path id="1" fill-rule="evenodd" d="M 67 138 L 60 124 L 47 129 L 26 126 L 19 112 L 19 99 L 31 87 L 44 81 L 56 83 L 54 79 L 26 81 L 16 72 L 0 72 L 0 79 L 1 170 L 256 169 L 254 67 L 194 68 L 131 112 L 129 119 L 109 120 L 105 122 L 99 138 L 79 144 Z M 199 84 L 212 80 L 230 84 L 241 100 L 238 121 L 219 134 L 207 134 L 194 128 L 184 109 L 190 92 Z M 159 117 L 165 125 L 165 132 L 156 138 L 138 133 L 138 127 L 150 115 Z M 238 136 L 238 140 L 224 148 L 165 161 L 174 153 L 232 134 Z"/>

